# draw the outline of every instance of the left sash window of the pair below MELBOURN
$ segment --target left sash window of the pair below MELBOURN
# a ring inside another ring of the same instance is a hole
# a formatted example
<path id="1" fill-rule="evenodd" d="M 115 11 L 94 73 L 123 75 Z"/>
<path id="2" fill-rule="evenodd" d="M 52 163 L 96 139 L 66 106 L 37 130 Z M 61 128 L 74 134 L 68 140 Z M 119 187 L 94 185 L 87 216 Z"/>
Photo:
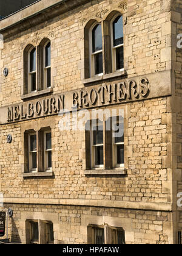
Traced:
<path id="1" fill-rule="evenodd" d="M 29 171 L 37 171 L 37 143 L 36 133 L 29 135 Z"/>

